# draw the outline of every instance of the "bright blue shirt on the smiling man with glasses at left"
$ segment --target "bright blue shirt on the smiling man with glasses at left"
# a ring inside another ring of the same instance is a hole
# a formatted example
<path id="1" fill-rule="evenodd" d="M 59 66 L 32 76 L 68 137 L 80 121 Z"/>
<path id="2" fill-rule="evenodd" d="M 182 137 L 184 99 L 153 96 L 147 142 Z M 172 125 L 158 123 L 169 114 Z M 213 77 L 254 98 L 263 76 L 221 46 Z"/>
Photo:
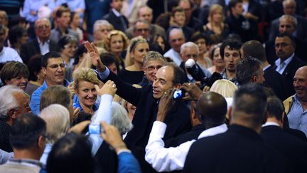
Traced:
<path id="1" fill-rule="evenodd" d="M 68 87 L 69 82 L 68 80 L 64 79 L 64 86 Z M 45 89 L 48 88 L 47 83 L 44 81 L 43 85 L 41 87 L 37 88 L 31 95 L 31 102 L 30 102 L 30 107 L 32 110 L 32 113 L 35 115 L 38 115 L 40 113 L 40 103 L 41 103 L 41 94 Z"/>

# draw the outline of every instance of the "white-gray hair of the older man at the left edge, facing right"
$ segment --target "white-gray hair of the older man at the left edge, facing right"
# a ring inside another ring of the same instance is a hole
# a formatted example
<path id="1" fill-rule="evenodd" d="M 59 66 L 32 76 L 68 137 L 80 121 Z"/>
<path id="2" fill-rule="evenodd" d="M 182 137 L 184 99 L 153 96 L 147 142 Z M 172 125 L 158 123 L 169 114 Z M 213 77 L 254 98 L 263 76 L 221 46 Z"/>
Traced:
<path id="1" fill-rule="evenodd" d="M 19 104 L 14 96 L 15 93 L 26 93 L 15 85 L 5 85 L 0 88 L 0 119 L 7 120 L 8 112 L 11 109 L 18 108 Z"/>

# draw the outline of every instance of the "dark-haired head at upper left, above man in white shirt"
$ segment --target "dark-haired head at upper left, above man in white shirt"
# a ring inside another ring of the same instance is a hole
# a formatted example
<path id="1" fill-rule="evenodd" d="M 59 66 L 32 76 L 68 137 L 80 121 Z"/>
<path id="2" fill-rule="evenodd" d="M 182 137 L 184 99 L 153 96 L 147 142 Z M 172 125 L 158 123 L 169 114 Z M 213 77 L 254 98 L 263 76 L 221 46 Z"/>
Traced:
<path id="1" fill-rule="evenodd" d="M 9 41 L 11 43 L 11 48 L 14 48 L 19 54 L 21 45 L 28 41 L 26 29 L 18 25 L 11 27 L 9 29 Z"/>

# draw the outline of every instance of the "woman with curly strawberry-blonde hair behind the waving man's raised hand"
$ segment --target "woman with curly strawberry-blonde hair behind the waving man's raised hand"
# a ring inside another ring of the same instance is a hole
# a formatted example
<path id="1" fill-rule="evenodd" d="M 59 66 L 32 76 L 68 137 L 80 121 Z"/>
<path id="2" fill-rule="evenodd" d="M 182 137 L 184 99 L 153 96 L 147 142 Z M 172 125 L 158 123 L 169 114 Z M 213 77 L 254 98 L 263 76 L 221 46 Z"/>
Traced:
<path id="1" fill-rule="evenodd" d="M 121 57 L 122 51 L 126 50 L 129 45 L 129 39 L 122 31 L 113 30 L 109 32 L 107 39 L 104 40 L 104 49 L 109 53 L 114 54 L 119 63 L 119 68 L 124 68 L 125 64 Z"/>

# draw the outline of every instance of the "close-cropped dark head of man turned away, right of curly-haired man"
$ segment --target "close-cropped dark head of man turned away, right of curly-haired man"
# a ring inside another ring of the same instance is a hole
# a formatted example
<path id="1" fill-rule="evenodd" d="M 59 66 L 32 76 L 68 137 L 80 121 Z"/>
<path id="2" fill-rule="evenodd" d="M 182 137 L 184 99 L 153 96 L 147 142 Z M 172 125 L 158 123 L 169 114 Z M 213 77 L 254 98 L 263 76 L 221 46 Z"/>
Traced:
<path id="1" fill-rule="evenodd" d="M 259 61 L 266 61 L 266 54 L 262 43 L 256 40 L 247 41 L 241 47 L 243 57 L 257 58 Z"/>

